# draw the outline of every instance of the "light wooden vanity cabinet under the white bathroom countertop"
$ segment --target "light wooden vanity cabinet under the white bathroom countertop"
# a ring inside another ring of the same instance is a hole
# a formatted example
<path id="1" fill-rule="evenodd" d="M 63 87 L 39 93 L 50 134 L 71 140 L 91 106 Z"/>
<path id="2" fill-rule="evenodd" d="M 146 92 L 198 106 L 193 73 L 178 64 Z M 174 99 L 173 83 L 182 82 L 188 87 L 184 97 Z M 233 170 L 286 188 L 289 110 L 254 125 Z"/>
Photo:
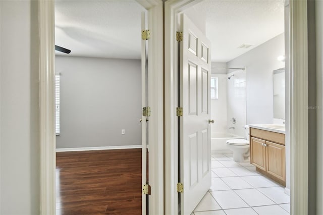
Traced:
<path id="1" fill-rule="evenodd" d="M 250 163 L 285 186 L 285 134 L 250 128 Z"/>

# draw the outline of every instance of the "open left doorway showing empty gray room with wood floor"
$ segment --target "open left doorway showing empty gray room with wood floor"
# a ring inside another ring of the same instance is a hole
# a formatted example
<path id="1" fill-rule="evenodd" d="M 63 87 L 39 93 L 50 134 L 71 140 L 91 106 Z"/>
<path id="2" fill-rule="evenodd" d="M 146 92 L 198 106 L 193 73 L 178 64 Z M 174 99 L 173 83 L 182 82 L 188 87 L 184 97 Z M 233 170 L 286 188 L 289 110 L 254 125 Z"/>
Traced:
<path id="1" fill-rule="evenodd" d="M 57 214 L 142 213 L 144 12 L 137 2 L 55 2 L 55 42 L 71 50 L 55 59 Z"/>

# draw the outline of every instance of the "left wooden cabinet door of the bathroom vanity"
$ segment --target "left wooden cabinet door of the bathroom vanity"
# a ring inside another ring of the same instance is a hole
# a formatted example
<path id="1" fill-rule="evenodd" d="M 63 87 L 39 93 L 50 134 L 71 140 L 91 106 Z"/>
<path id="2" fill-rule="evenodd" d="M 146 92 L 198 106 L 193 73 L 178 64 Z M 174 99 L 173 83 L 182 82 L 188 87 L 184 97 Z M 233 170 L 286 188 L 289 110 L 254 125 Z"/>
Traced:
<path id="1" fill-rule="evenodd" d="M 251 164 L 263 171 L 266 171 L 266 148 L 264 147 L 264 144 L 264 140 L 251 137 Z"/>

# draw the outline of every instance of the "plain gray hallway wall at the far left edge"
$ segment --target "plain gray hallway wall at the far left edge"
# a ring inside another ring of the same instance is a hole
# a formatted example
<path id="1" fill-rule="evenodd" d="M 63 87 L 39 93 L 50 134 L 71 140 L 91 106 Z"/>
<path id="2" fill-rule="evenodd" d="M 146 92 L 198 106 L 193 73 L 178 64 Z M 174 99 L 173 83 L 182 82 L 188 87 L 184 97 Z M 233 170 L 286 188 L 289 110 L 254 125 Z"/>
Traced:
<path id="1" fill-rule="evenodd" d="M 36 1 L 0 1 L 1 214 L 39 214 Z"/>

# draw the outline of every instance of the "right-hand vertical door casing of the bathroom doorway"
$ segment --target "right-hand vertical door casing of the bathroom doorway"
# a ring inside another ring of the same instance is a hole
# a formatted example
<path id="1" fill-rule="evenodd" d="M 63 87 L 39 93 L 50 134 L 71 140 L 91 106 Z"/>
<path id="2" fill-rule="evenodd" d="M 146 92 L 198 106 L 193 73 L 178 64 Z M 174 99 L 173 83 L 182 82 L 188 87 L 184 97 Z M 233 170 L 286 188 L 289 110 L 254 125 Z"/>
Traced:
<path id="1" fill-rule="evenodd" d="M 290 1 L 291 214 L 308 207 L 307 1 Z"/>

